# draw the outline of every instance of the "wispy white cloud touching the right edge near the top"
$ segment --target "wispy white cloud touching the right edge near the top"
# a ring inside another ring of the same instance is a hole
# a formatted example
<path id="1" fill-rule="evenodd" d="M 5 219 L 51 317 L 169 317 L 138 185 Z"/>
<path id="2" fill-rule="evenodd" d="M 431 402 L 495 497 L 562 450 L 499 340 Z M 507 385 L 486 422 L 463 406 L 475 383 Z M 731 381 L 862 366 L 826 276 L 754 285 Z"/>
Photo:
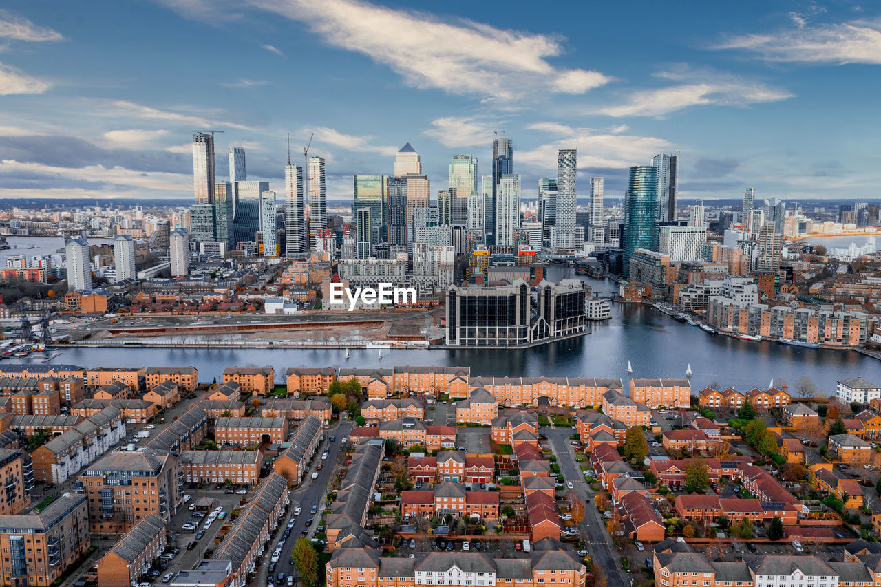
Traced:
<path id="1" fill-rule="evenodd" d="M 808 26 L 803 15 L 793 20 L 795 28 L 736 36 L 714 48 L 744 49 L 774 62 L 881 64 L 881 19 L 818 26 Z"/>

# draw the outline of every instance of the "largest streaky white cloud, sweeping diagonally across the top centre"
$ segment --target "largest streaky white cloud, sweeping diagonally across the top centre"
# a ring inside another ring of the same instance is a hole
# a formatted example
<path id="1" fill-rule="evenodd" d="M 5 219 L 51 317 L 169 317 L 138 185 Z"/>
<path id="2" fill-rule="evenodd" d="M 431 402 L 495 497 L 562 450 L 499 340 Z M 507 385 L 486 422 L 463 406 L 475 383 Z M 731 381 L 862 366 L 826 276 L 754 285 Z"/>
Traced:
<path id="1" fill-rule="evenodd" d="M 560 69 L 548 62 L 563 53 L 544 34 L 502 30 L 471 21 L 442 22 L 362 0 L 250 0 L 267 11 L 307 23 L 334 47 L 385 63 L 418 88 L 512 100 L 531 88 L 584 93 L 609 81 L 602 73 Z M 537 79 L 550 80 L 549 85 Z"/>

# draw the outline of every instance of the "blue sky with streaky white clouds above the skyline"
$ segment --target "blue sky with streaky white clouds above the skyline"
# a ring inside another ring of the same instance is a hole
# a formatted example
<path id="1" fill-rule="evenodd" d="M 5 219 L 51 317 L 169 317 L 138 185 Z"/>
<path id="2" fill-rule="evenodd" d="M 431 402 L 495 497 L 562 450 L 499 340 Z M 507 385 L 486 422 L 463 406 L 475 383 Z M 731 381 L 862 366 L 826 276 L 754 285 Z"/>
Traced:
<path id="1" fill-rule="evenodd" d="M 6 0 L 0 197 L 192 197 L 193 130 L 282 190 L 326 159 L 328 198 L 411 143 L 433 193 L 453 154 L 523 197 L 578 149 L 578 193 L 680 152 L 680 197 L 877 199 L 881 4 L 801 0 Z M 414 6 L 418 8 L 414 8 Z M 2 204 L 0 204 L 2 205 Z"/>

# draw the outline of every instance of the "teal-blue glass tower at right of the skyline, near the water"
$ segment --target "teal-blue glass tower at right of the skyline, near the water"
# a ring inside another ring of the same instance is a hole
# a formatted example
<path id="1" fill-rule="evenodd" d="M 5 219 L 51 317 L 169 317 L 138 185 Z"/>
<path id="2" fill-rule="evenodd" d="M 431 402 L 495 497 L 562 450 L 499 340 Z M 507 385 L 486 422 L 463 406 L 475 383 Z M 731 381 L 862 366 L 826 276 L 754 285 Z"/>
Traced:
<path id="1" fill-rule="evenodd" d="M 657 250 L 657 203 L 657 167 L 631 167 L 624 197 L 624 234 L 621 237 L 624 275 L 629 275 L 634 250 Z"/>

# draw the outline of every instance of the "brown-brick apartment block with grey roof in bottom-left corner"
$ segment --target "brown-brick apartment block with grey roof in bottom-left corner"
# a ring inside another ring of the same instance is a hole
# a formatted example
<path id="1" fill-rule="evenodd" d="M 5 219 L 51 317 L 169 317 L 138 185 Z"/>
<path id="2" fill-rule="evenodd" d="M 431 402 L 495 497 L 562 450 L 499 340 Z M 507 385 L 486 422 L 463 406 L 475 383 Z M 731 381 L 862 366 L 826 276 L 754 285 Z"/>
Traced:
<path id="1" fill-rule="evenodd" d="M 39 514 L 0 516 L 6 585 L 51 585 L 89 546 L 85 495 L 63 494 Z"/>

